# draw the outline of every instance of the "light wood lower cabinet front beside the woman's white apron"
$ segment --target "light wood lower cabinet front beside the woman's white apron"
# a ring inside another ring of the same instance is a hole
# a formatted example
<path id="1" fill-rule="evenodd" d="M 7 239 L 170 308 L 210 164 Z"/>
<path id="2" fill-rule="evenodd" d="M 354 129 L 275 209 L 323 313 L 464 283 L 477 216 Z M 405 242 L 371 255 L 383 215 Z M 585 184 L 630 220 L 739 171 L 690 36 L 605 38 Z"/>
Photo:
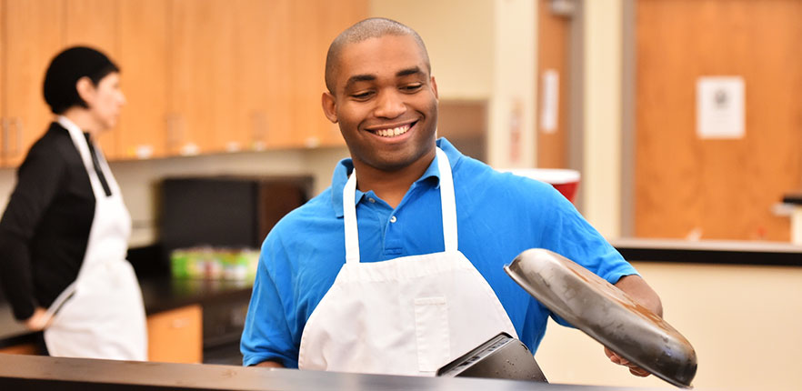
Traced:
<path id="1" fill-rule="evenodd" d="M 203 310 L 184 306 L 147 316 L 149 361 L 200 363 L 203 361 Z"/>

